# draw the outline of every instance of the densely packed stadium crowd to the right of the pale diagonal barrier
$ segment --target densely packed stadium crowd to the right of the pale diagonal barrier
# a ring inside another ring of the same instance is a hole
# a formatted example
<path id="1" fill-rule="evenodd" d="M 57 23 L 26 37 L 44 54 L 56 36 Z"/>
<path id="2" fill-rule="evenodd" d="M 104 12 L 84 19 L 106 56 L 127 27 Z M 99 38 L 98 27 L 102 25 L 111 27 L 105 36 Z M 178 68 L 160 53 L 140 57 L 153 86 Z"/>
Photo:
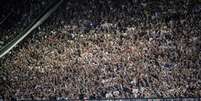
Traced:
<path id="1" fill-rule="evenodd" d="M 0 95 L 201 96 L 201 2 L 68 0 L 1 61 Z"/>

